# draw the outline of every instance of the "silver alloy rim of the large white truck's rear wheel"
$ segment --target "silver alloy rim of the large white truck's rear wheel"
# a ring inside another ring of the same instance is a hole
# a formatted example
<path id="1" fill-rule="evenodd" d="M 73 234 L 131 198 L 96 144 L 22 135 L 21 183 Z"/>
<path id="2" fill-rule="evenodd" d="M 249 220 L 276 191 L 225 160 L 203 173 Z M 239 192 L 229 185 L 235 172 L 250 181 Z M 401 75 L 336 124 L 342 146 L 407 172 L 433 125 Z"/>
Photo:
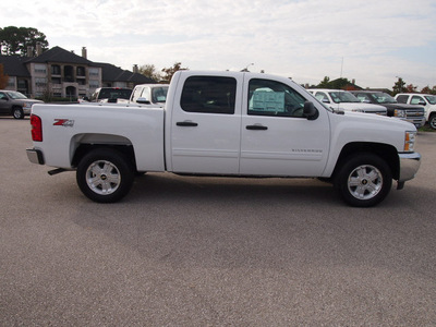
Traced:
<path id="1" fill-rule="evenodd" d="M 93 192 L 100 195 L 112 194 L 121 183 L 117 166 L 107 160 L 97 160 L 86 170 L 86 183 Z"/>

